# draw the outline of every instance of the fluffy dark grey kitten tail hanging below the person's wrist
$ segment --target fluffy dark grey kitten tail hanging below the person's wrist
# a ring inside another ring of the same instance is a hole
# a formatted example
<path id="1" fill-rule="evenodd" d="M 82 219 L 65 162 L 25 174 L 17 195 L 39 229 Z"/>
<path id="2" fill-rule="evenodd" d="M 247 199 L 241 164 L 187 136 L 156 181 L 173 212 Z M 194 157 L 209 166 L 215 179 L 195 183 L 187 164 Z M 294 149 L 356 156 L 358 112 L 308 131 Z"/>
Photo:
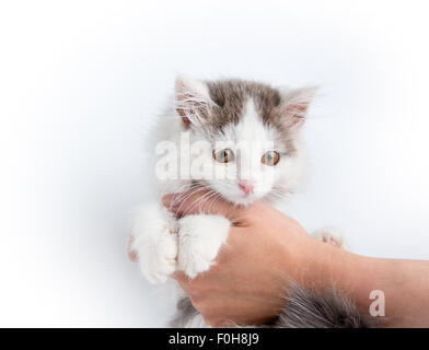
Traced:
<path id="1" fill-rule="evenodd" d="M 275 328 L 371 328 L 374 325 L 355 303 L 335 288 L 323 293 L 310 291 L 297 283 L 288 289 L 287 304 Z"/>

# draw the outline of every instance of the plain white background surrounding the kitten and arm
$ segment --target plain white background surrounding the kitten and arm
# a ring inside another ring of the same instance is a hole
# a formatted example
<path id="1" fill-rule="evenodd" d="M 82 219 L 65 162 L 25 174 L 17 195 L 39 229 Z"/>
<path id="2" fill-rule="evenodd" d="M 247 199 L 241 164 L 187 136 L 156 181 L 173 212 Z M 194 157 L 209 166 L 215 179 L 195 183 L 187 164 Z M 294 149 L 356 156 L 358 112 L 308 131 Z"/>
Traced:
<path id="1" fill-rule="evenodd" d="M 290 214 L 429 259 L 427 1 L 3 1 L 0 326 L 162 326 L 126 257 L 144 129 L 178 72 L 320 84 Z"/>

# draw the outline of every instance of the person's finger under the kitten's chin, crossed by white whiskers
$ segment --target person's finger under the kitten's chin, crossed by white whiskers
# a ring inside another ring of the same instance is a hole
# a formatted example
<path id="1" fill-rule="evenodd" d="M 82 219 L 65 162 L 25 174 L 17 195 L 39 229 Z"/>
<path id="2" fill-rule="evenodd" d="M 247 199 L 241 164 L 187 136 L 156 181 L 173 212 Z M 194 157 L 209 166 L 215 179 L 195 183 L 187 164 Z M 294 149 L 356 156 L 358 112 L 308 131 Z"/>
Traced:
<path id="1" fill-rule="evenodd" d="M 244 207 L 224 200 L 217 192 L 200 188 L 193 192 L 166 195 L 162 198 L 162 202 L 178 217 L 196 213 L 221 214 L 233 221 L 245 210 Z"/>

